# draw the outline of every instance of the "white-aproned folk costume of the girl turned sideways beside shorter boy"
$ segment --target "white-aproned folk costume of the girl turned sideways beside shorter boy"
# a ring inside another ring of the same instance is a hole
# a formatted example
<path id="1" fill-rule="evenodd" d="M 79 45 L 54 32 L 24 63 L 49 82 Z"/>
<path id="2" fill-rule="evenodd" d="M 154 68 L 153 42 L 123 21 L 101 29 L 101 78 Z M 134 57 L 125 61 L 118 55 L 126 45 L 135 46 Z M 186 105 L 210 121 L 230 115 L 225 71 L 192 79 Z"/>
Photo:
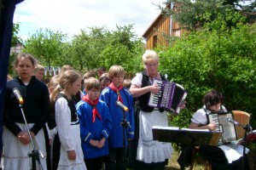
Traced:
<path id="1" fill-rule="evenodd" d="M 86 170 L 81 148 L 80 125 L 73 100 L 65 94 L 55 99 L 56 131 L 53 141 L 53 169 Z M 67 150 L 75 150 L 76 159 L 70 160 Z"/>

